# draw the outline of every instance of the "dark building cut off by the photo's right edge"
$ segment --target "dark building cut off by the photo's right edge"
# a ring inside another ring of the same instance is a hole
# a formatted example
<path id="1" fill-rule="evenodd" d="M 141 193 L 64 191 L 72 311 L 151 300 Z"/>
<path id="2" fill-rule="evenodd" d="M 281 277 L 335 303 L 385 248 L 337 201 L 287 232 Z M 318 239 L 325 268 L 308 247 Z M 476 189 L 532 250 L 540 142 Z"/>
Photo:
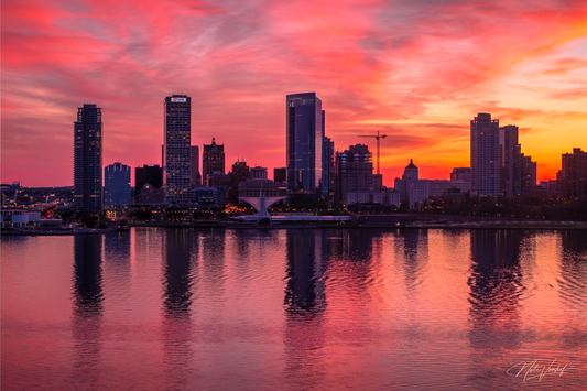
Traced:
<path id="1" fill-rule="evenodd" d="M 587 152 L 574 148 L 573 153 L 563 154 L 563 169 L 557 178 L 564 197 L 587 195 Z"/>

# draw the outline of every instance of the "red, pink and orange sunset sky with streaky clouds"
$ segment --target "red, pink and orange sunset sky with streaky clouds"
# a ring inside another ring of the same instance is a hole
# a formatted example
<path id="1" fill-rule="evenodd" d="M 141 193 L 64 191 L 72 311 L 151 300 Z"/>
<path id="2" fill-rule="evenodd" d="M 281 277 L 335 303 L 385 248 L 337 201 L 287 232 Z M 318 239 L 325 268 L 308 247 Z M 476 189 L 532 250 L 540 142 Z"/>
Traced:
<path id="1" fill-rule="evenodd" d="M 285 96 L 315 91 L 335 148 L 380 131 L 383 182 L 469 166 L 469 121 L 520 127 L 539 180 L 587 150 L 587 1 L 2 0 L 1 182 L 73 184 L 77 108 L 104 164 L 161 164 L 163 98 L 227 171 L 285 166 Z M 373 159 L 374 161 L 374 159 Z"/>

